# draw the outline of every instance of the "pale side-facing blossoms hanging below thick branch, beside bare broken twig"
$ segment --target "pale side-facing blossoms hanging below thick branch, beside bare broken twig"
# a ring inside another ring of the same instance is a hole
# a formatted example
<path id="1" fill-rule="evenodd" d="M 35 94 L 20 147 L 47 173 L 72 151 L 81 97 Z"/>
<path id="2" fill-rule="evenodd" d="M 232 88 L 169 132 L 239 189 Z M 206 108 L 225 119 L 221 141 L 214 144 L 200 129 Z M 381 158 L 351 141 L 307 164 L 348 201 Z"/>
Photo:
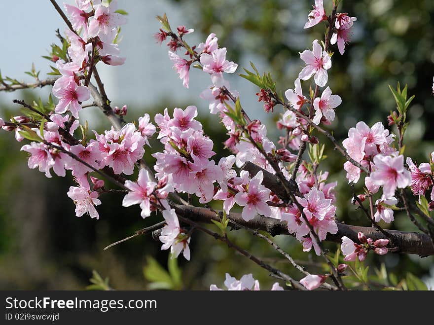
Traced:
<path id="1" fill-rule="evenodd" d="M 163 217 L 164 220 L 166 220 L 166 225 L 161 229 L 161 235 L 159 237 L 160 242 L 163 243 L 161 249 L 168 250 L 170 248 L 172 258 L 178 257 L 183 251 L 185 259 L 190 260 L 190 248 L 188 246 L 190 237 L 187 237 L 181 230 L 180 221 L 178 220 L 175 210 L 164 210 Z"/>

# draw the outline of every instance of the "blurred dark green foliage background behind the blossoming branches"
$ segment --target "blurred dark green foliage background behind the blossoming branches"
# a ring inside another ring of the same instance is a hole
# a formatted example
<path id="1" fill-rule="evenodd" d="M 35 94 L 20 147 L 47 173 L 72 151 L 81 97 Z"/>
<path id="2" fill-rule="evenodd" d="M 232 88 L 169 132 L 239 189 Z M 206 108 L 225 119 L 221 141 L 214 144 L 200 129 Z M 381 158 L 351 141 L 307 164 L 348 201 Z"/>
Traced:
<path id="1" fill-rule="evenodd" d="M 228 48 L 230 60 L 238 62 L 240 68 L 249 68 L 248 62 L 252 61 L 260 73 L 270 71 L 277 81 L 278 90 L 293 88 L 293 81 L 302 66 L 298 52 L 311 47 L 313 39 L 321 39 L 324 35 L 321 25 L 309 30 L 302 28 L 313 0 L 174 2 L 181 4 L 184 24 L 188 28 L 203 33 L 203 39 L 211 32 L 216 33 L 220 46 Z M 327 12 L 330 7 L 331 0 L 325 0 Z M 431 128 L 434 118 L 431 89 L 434 1 L 343 0 L 340 7 L 339 11 L 348 12 L 358 20 L 353 42 L 346 47 L 343 56 L 335 52 L 332 68 L 328 71 L 330 88 L 343 100 L 329 129 L 342 141 L 357 121 L 387 124 L 386 116 L 396 108 L 388 85 L 395 86 L 399 81 L 402 85 L 408 84 L 409 96 L 415 95 L 408 108 L 410 124 L 404 139 L 405 155 L 418 162 L 427 161 L 434 149 L 434 128 Z M 35 96 L 36 92 L 29 92 L 23 99 L 29 102 L 37 99 Z M 242 93 L 241 99 L 246 96 L 254 97 L 254 94 Z M 128 104 L 127 99 L 125 102 Z M 201 102 L 198 100 L 198 103 Z M 153 116 L 165 107 L 183 108 L 190 104 L 194 103 L 173 103 L 162 98 L 153 108 L 129 107 L 127 118 L 133 120 L 145 111 Z M 10 109 L 11 105 L 3 103 L 0 111 L 3 116 L 17 114 Z M 255 109 L 262 109 L 260 103 Z M 272 118 L 277 120 L 280 112 L 277 110 Z M 100 116 L 104 119 L 103 114 Z M 222 127 L 216 127 L 217 117 L 202 114 L 199 119 L 214 140 L 215 159 L 218 161 L 221 156 L 228 155 L 221 145 L 225 135 Z M 271 121 L 268 126 L 270 133 L 278 134 Z M 103 127 L 108 127 L 108 122 L 104 122 Z M 367 225 L 362 212 L 355 211 L 350 203 L 352 192 L 342 170 L 342 156 L 333 151 L 325 139 L 321 141 L 326 144 L 327 159 L 321 162 L 320 169 L 330 172 L 329 181 L 338 181 L 338 219 Z M 154 159 L 150 154 L 161 145 L 155 140 L 151 145 L 152 149 L 146 150 L 145 158 L 152 165 Z M 26 155 L 19 151 L 20 146 L 12 134 L 0 135 L 1 289 L 83 289 L 89 284 L 92 270 L 101 274 L 94 275 L 97 282 L 93 282 L 94 285 L 108 286 L 103 279 L 109 277 L 110 286 L 115 289 L 152 288 L 156 286 L 152 284 L 155 282 L 165 283 L 171 289 L 207 289 L 210 284 L 221 287 L 226 272 L 237 278 L 253 273 L 262 288 L 269 288 L 276 281 L 250 260 L 202 233 L 195 232 L 191 239 L 191 261 L 186 262 L 182 257 L 178 259 L 180 270 L 173 265 L 166 268 L 169 253 L 161 251 L 161 244 L 149 235 L 103 251 L 110 243 L 159 221 L 161 217 L 153 215 L 143 220 L 138 206 L 121 207 L 122 195 L 119 194 L 101 197 L 103 204 L 97 208 L 100 220 L 75 217 L 73 203 L 66 195 L 72 180 L 68 177 L 48 180 L 36 170 L 29 170 Z M 358 189 L 360 187 L 356 186 Z M 213 207 L 221 208 L 219 204 Z M 416 230 L 403 214 L 396 213 L 395 219 L 392 225 L 381 225 Z M 216 226 L 212 227 L 217 231 Z M 264 241 L 244 230 L 228 231 L 228 236 L 295 279 L 301 277 Z M 275 240 L 312 273 L 326 270 L 323 261 L 313 253 L 303 253 L 301 244 L 294 238 L 278 236 Z M 337 248 L 336 244 L 326 243 L 325 246 L 332 252 Z M 371 265 L 368 273 L 373 282 L 385 286 L 399 285 L 401 289 L 422 289 L 418 279 L 429 274 L 433 256 L 369 254 L 365 265 Z"/>

